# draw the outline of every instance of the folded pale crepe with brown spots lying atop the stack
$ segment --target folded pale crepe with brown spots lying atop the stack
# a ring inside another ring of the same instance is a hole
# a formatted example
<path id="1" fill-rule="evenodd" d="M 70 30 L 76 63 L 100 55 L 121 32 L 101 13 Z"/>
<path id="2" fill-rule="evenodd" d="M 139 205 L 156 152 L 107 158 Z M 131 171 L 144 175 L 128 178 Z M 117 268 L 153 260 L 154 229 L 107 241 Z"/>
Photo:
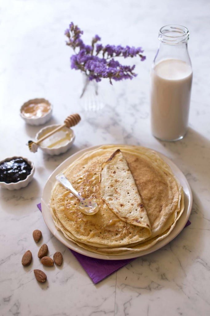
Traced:
<path id="1" fill-rule="evenodd" d="M 151 231 L 138 188 L 120 149 L 102 164 L 100 182 L 101 196 L 117 217 Z"/>

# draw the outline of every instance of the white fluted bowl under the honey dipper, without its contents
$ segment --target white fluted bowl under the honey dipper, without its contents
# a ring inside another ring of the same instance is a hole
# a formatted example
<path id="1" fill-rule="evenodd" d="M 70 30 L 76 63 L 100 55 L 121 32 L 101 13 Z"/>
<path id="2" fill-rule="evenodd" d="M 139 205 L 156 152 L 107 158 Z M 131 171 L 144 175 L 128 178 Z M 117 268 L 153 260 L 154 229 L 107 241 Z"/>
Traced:
<path id="1" fill-rule="evenodd" d="M 56 127 L 58 127 L 60 125 L 48 125 L 46 127 L 43 127 L 36 135 L 36 141 L 38 139 L 40 139 L 41 137 L 43 137 L 46 132 L 50 132 L 52 131 L 53 129 L 55 129 Z M 74 131 L 71 129 L 71 128 L 68 128 L 68 130 L 71 131 L 71 139 L 68 140 L 68 142 L 65 144 L 65 145 L 62 145 L 58 148 L 47 148 L 47 147 L 44 147 L 42 145 L 39 145 L 39 148 L 46 154 L 48 155 L 60 155 L 62 153 L 65 153 L 68 149 L 71 148 L 71 146 L 73 145 L 74 143 L 74 140 L 75 140 L 75 134 L 74 134 Z"/>

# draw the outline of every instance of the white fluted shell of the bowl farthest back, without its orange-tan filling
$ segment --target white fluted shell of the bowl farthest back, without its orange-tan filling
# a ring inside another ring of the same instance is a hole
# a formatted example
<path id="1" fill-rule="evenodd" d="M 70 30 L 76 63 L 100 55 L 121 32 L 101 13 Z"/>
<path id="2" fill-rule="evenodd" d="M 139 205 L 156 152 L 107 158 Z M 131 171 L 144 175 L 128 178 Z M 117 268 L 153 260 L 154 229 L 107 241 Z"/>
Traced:
<path id="1" fill-rule="evenodd" d="M 32 117 L 32 118 L 29 118 L 29 117 L 26 117 L 23 113 L 22 113 L 22 110 L 25 106 L 29 105 L 29 104 L 38 104 L 38 103 L 46 103 L 47 105 L 50 106 L 50 109 L 49 111 L 44 114 L 43 116 L 41 117 Z M 28 100 L 27 102 L 25 102 L 21 108 L 20 108 L 20 116 L 22 119 L 25 120 L 26 124 L 29 124 L 29 125 L 43 125 L 45 124 L 47 121 L 49 121 L 49 119 L 51 119 L 52 117 L 52 112 L 53 112 L 53 107 L 52 107 L 52 104 L 49 103 L 48 100 L 45 100 L 43 98 L 40 98 L 40 99 L 31 99 L 31 100 Z"/>

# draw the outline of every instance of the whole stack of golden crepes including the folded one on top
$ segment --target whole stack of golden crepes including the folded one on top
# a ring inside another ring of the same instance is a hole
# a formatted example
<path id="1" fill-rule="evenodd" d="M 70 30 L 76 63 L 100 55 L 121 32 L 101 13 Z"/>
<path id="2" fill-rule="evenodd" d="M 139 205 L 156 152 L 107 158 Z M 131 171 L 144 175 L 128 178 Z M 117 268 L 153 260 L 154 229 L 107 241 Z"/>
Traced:
<path id="1" fill-rule="evenodd" d="M 83 214 L 79 200 L 56 182 L 50 201 L 55 226 L 95 253 L 138 255 L 170 234 L 184 210 L 179 181 L 156 152 L 144 147 L 105 145 L 63 173 L 99 211 Z"/>

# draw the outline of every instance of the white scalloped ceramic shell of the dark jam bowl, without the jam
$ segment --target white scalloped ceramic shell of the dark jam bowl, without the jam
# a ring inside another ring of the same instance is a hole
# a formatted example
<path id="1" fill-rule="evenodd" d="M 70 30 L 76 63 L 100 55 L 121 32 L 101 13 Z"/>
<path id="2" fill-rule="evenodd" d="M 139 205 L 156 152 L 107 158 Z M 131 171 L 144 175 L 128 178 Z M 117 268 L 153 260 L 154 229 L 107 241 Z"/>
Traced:
<path id="1" fill-rule="evenodd" d="M 0 161 L 0 164 L 2 162 L 4 162 L 4 161 L 9 161 L 9 160 L 14 159 L 14 158 L 22 158 L 22 159 L 26 160 L 29 163 L 29 165 L 31 166 L 31 168 L 32 168 L 31 169 L 31 173 L 26 177 L 26 179 L 20 180 L 18 182 L 6 183 L 6 182 L 0 181 L 0 187 L 3 188 L 3 189 L 19 190 L 21 188 L 25 188 L 25 186 L 28 185 L 31 182 L 31 180 L 33 179 L 33 175 L 34 175 L 34 172 L 35 172 L 35 167 L 34 167 L 33 162 L 31 162 L 27 158 L 20 157 L 20 156 L 9 157 L 9 158 L 6 158 L 6 159 Z"/>

